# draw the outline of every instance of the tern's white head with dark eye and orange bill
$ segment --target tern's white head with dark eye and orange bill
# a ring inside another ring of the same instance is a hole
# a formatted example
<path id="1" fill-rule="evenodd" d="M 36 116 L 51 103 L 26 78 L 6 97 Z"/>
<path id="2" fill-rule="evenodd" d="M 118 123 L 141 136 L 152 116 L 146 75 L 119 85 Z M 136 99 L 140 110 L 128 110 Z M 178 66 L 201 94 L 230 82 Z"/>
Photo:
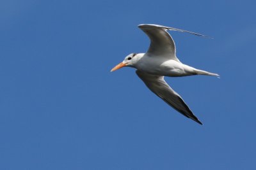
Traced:
<path id="1" fill-rule="evenodd" d="M 123 62 L 120 62 L 119 64 L 117 64 L 115 67 L 113 67 L 113 69 L 111 69 L 112 71 L 116 71 L 116 69 L 120 69 L 122 67 L 134 67 L 134 65 L 136 64 L 136 62 L 138 62 L 138 60 L 140 60 L 142 57 L 141 53 L 130 53 L 129 55 L 127 55 Z"/>

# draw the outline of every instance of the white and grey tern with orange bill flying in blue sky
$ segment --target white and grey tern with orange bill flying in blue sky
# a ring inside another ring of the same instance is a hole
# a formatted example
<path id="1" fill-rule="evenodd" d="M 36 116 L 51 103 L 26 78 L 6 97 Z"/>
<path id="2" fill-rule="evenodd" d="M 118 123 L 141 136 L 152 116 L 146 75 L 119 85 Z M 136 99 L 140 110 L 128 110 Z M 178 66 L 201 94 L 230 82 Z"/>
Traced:
<path id="1" fill-rule="evenodd" d="M 138 27 L 147 34 L 148 38 L 150 38 L 148 51 L 146 53 L 131 53 L 127 55 L 123 62 L 113 67 L 111 71 L 115 71 L 116 69 L 125 66 L 134 67 L 136 69 L 136 74 L 141 78 L 145 85 L 147 85 L 148 89 L 163 99 L 168 105 L 172 106 L 172 108 L 179 111 L 182 115 L 191 118 L 202 125 L 202 122 L 196 118 L 182 97 L 180 97 L 180 95 L 177 94 L 166 81 L 164 81 L 164 76 L 219 76 L 215 73 L 210 73 L 182 64 L 176 57 L 175 43 L 172 36 L 170 36 L 167 31 L 187 32 L 196 36 L 204 35 L 155 24 L 141 24 L 138 25 Z"/>

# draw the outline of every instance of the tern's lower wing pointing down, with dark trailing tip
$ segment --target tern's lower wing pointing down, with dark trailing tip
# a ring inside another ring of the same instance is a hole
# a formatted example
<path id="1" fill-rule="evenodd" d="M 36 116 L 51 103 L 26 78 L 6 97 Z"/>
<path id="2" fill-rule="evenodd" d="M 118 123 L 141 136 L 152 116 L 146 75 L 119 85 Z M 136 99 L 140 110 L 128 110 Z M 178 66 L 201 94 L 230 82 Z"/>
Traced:
<path id="1" fill-rule="evenodd" d="M 172 108 L 182 113 L 185 117 L 191 118 L 202 125 L 179 94 L 164 81 L 164 76 L 156 76 L 138 70 L 136 71 L 136 74 L 141 78 L 145 85 L 147 85 L 148 89 L 172 106 Z"/>

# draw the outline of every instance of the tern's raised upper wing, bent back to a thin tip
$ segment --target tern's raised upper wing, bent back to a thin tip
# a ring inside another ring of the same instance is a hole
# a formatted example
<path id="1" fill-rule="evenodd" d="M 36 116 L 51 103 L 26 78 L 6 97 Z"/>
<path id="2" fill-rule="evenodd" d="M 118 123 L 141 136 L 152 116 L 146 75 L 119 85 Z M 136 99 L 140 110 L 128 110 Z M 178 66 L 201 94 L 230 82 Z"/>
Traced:
<path id="1" fill-rule="evenodd" d="M 177 61 L 179 61 L 179 59 L 176 57 L 175 43 L 167 30 L 188 32 L 196 36 L 204 36 L 203 34 L 198 34 L 196 32 L 190 32 L 182 29 L 175 29 L 172 27 L 165 27 L 155 24 L 140 24 L 138 27 L 150 38 L 150 46 L 147 51 L 148 55 L 167 57 L 168 59 Z"/>

